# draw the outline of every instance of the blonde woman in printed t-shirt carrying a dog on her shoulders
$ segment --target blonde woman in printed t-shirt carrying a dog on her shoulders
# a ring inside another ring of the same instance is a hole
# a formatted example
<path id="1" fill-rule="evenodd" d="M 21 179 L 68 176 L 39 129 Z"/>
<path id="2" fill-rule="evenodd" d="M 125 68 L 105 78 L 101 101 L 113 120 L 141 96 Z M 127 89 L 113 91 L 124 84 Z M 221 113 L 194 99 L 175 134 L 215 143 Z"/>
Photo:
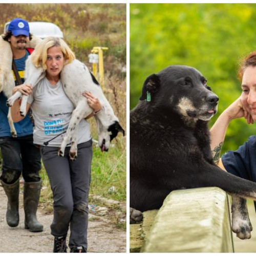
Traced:
<path id="1" fill-rule="evenodd" d="M 46 76 L 31 89 L 24 84 L 19 91 L 29 95 L 27 110 L 31 107 L 35 120 L 34 143 L 40 148 L 42 161 L 53 192 L 54 217 L 51 233 L 54 236 L 53 252 L 67 252 L 66 237 L 70 226 L 71 252 L 87 252 L 88 193 L 91 179 L 92 139 L 90 126 L 82 120 L 78 127 L 78 155 L 69 159 L 69 146 L 65 156 L 57 155 L 62 136 L 68 128 L 74 106 L 62 89 L 60 72 L 75 58 L 65 41 L 45 38 L 31 55 L 35 66 L 43 67 Z M 15 93 L 16 90 L 13 90 Z M 84 94 L 94 112 L 101 110 L 98 99 Z M 84 99 L 86 100 L 86 99 Z M 12 106 L 14 122 L 22 120 L 18 100 Z"/>

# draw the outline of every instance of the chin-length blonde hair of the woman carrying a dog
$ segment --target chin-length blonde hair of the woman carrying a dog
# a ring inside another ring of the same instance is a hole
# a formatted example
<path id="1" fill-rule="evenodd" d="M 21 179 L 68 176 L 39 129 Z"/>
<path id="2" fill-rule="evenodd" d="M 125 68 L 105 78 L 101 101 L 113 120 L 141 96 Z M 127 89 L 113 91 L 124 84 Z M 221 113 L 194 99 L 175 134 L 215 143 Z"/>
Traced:
<path id="1" fill-rule="evenodd" d="M 71 51 L 64 40 L 58 37 L 49 36 L 41 40 L 31 54 L 31 61 L 36 67 L 46 67 L 47 50 L 53 46 L 59 47 L 64 56 L 64 65 L 71 63 L 75 59 L 75 54 Z"/>

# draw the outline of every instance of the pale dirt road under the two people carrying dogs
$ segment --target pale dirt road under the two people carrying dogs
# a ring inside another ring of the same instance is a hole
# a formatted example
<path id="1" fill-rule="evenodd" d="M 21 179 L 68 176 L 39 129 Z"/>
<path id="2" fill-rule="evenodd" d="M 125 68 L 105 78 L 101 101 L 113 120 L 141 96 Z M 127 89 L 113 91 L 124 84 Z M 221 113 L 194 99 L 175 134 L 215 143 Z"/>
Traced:
<path id="1" fill-rule="evenodd" d="M 0 252 L 52 252 L 53 236 L 50 224 L 53 216 L 38 211 L 37 218 L 44 225 L 44 231 L 30 232 L 24 229 L 22 201 L 21 193 L 19 225 L 11 228 L 5 219 L 7 198 L 0 186 Z M 116 228 L 107 219 L 89 214 L 88 244 L 88 252 L 126 252 L 126 231 Z"/>

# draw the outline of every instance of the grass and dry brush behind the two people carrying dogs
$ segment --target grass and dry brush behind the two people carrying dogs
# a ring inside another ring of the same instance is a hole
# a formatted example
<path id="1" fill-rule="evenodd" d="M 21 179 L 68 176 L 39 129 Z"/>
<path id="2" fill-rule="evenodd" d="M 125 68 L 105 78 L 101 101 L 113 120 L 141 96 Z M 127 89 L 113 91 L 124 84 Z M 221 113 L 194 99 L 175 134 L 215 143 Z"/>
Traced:
<path id="1" fill-rule="evenodd" d="M 0 30 L 15 17 L 29 22 L 52 22 L 60 27 L 64 39 L 76 57 L 91 68 L 88 55 L 94 46 L 109 47 L 104 51 L 105 93 L 120 124 L 126 131 L 126 5 L 125 4 L 0 4 Z M 93 139 L 97 140 L 94 118 L 90 119 Z M 91 194 L 126 200 L 126 137 L 118 135 L 108 153 L 94 145 Z M 52 211 L 52 193 L 44 167 L 41 207 Z M 108 192 L 114 186 L 115 190 Z"/>

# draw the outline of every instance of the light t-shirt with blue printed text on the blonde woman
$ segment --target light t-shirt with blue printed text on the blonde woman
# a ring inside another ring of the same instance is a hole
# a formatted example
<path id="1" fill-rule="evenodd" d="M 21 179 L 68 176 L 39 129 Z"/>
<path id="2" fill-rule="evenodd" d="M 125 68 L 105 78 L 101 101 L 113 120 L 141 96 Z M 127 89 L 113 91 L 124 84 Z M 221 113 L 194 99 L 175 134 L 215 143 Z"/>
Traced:
<path id="1" fill-rule="evenodd" d="M 48 142 L 48 146 L 60 146 L 75 109 L 63 91 L 60 80 L 55 86 L 46 77 L 40 80 L 29 95 L 28 103 L 31 104 L 35 120 L 34 143 L 44 145 L 44 142 Z M 91 139 L 90 124 L 84 119 L 78 125 L 77 138 L 78 144 Z"/>

